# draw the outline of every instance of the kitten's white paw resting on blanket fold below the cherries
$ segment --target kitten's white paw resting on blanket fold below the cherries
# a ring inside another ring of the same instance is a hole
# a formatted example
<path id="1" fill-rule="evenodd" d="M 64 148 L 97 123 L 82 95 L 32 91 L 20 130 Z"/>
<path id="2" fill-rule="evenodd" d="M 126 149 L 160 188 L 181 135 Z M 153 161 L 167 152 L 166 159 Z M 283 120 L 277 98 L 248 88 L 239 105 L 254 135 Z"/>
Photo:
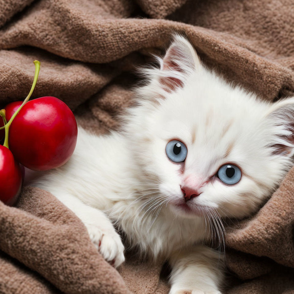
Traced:
<path id="1" fill-rule="evenodd" d="M 123 255 L 124 246 L 119 234 L 114 228 L 100 228 L 95 224 L 85 224 L 90 239 L 104 257 L 114 267 L 118 267 L 125 261 Z"/>

